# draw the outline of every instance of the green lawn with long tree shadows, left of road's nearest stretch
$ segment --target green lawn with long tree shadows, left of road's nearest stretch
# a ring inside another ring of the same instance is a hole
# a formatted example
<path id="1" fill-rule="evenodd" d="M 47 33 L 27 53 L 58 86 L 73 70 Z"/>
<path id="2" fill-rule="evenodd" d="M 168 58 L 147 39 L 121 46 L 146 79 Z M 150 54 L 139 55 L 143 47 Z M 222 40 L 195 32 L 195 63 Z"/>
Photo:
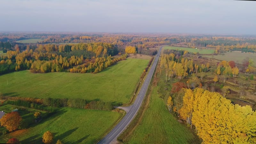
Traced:
<path id="1" fill-rule="evenodd" d="M 15 137 L 21 143 L 42 143 L 44 132 L 54 134 L 53 143 L 94 143 L 122 116 L 121 113 L 103 110 L 60 108 L 36 126 L 0 136 L 5 143 Z"/>

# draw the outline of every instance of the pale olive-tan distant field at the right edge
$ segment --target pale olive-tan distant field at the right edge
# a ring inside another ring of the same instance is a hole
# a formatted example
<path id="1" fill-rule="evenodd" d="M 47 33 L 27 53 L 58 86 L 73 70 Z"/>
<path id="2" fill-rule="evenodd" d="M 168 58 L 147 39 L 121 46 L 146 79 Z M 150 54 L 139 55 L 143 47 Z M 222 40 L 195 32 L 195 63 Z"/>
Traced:
<path id="1" fill-rule="evenodd" d="M 245 58 L 250 58 L 254 61 L 254 65 L 256 66 L 256 53 L 249 52 L 225 52 L 225 55 L 214 55 L 213 58 L 217 60 L 226 60 L 226 61 L 235 61 L 236 63 L 243 63 Z M 211 55 L 205 55 L 204 57 L 212 58 Z"/>

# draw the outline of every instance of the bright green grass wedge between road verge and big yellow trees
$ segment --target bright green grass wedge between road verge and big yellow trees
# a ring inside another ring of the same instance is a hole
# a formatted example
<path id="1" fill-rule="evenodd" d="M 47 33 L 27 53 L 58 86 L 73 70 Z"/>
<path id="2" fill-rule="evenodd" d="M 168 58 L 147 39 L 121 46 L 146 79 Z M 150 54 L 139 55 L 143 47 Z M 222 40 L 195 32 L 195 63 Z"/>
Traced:
<path id="1" fill-rule="evenodd" d="M 142 122 L 124 143 L 200 143 L 193 132 L 180 124 L 165 108 L 155 87 Z"/>

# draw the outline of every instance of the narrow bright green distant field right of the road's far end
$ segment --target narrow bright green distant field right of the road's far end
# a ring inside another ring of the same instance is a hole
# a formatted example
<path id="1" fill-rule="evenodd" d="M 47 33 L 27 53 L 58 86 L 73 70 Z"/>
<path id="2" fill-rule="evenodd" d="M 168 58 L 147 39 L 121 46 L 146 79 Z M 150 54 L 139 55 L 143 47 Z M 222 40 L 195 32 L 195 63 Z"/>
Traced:
<path id="1" fill-rule="evenodd" d="M 164 46 L 164 49 L 183 50 L 183 51 L 188 51 L 188 52 L 199 52 L 200 54 L 213 54 L 215 51 L 212 49 L 194 49 L 194 48 L 176 47 L 176 46 Z"/>

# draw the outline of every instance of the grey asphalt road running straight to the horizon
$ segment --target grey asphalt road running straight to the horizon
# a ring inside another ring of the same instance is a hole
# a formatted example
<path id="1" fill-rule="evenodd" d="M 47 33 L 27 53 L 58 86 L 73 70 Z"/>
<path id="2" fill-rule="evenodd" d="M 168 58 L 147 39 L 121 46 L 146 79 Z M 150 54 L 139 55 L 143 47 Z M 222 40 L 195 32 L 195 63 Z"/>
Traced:
<path id="1" fill-rule="evenodd" d="M 159 59 L 160 52 L 162 50 L 163 46 L 160 47 L 158 53 L 156 54 L 156 58 L 152 64 L 152 67 L 150 68 L 148 72 L 148 76 L 146 77 L 144 83 L 142 84 L 142 87 L 137 95 L 136 100 L 134 103 L 130 106 L 131 109 L 129 112 L 123 117 L 123 119 L 102 139 L 98 142 L 98 144 L 109 144 L 113 140 L 116 140 L 116 138 L 124 132 L 126 127 L 131 123 L 132 119 L 137 115 L 137 112 L 141 106 L 141 103 L 143 101 L 144 96 L 146 95 L 146 92 L 148 90 L 148 85 L 150 83 L 150 80 L 153 76 L 153 73 L 156 68 L 157 61 Z"/>

